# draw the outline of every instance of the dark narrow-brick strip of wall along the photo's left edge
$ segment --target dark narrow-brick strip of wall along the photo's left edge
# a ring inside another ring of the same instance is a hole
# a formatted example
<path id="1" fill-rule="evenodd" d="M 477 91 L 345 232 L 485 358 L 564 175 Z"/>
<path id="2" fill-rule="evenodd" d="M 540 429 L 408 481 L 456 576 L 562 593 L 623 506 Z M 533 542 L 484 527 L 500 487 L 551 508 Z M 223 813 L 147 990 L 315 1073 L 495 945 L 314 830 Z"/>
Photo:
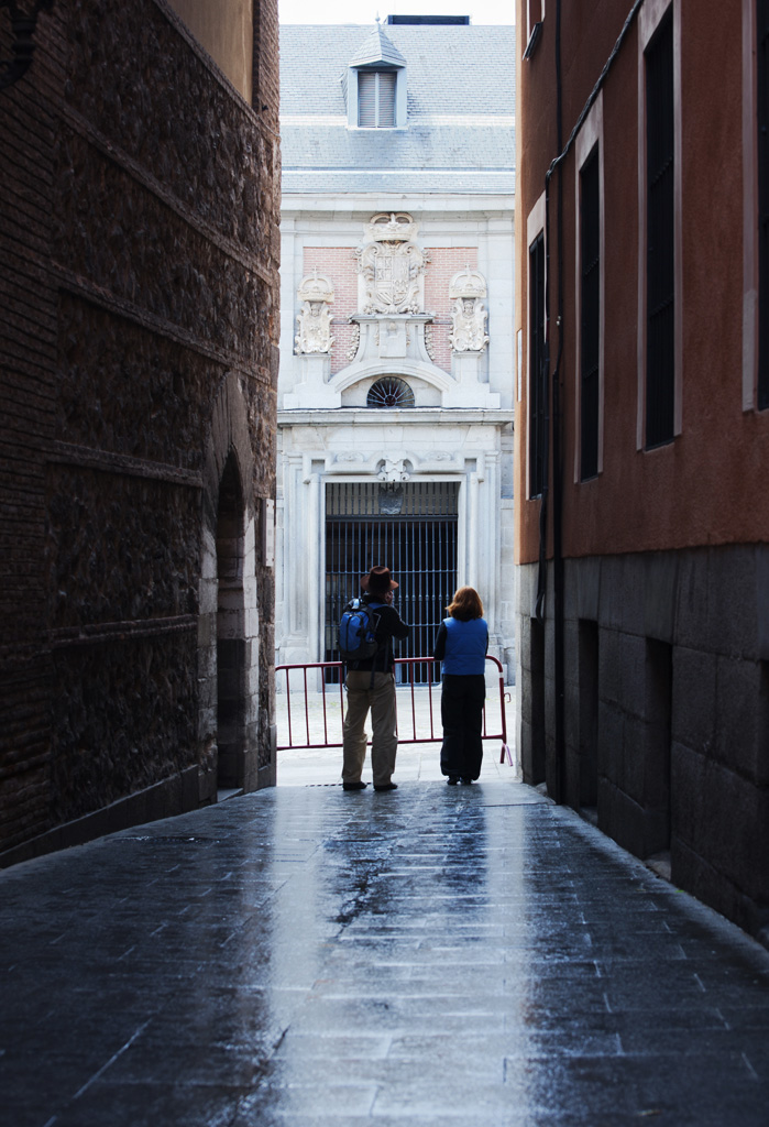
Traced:
<path id="1" fill-rule="evenodd" d="M 50 39 L 51 19 L 41 24 Z M 10 53 L 3 8 L 0 57 Z M 45 455 L 54 437 L 56 284 L 46 255 L 63 82 L 56 54 L 39 52 L 35 77 L 0 91 L 0 834 L 10 842 L 46 827 L 51 766 Z"/>

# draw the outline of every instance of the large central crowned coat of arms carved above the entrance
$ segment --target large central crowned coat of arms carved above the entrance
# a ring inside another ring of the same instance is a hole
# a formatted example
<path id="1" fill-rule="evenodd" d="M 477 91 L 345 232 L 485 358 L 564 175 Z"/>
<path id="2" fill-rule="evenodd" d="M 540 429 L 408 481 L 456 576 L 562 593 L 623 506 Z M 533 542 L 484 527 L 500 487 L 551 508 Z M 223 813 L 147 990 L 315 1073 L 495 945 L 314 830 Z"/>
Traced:
<path id="1" fill-rule="evenodd" d="M 405 212 L 382 212 L 366 224 L 356 251 L 366 287 L 364 313 L 422 312 L 420 279 L 429 259 L 414 241 L 417 231 Z"/>

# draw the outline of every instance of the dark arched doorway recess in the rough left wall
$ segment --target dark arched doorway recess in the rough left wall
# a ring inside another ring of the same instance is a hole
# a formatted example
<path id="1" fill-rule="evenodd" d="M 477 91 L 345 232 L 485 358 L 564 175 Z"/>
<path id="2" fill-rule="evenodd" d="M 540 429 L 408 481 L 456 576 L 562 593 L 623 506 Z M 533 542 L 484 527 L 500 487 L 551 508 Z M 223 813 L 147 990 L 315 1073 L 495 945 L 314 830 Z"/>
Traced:
<path id="1" fill-rule="evenodd" d="M 243 490 L 234 453 L 224 467 L 216 513 L 216 786 L 242 787 L 245 752 L 245 557 Z"/>

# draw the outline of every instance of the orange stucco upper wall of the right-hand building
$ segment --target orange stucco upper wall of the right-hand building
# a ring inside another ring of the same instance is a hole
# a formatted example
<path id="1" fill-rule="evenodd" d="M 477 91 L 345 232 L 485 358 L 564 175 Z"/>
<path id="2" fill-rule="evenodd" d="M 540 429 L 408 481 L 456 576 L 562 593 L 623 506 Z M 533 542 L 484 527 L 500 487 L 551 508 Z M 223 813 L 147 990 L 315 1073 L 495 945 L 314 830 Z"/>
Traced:
<path id="1" fill-rule="evenodd" d="M 679 0 L 676 0 L 679 2 Z M 631 0 L 563 5 L 563 135 L 609 56 Z M 769 539 L 769 411 L 743 410 L 743 53 L 741 0 L 680 0 L 681 432 L 636 449 L 638 403 L 638 23 L 603 88 L 603 463 L 574 483 L 575 154 L 563 162 L 564 554 L 614 554 Z M 521 42 L 526 3 L 518 2 Z M 518 307 L 527 371 L 527 215 L 545 189 L 555 135 L 555 0 L 518 85 Z M 551 353 L 557 352 L 557 174 L 551 185 Z M 526 497 L 526 379 L 517 425 L 518 560 L 538 552 L 539 502 Z"/>

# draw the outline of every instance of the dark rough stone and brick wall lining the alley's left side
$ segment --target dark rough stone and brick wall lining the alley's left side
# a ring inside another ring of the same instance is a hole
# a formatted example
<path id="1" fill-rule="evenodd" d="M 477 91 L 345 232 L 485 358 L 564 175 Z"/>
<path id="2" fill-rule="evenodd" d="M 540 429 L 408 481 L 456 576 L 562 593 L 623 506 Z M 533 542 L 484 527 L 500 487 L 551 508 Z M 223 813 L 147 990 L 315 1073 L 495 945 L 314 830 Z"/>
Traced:
<path id="1" fill-rule="evenodd" d="M 180 772 L 215 795 L 202 601 L 235 434 L 259 530 L 241 781 L 274 775 L 277 16 L 259 7 L 263 110 L 164 0 L 57 0 L 0 91 L 0 850 L 147 788 L 157 813 L 163 788 L 196 802 Z M 5 54 L 1 18 L 0 36 Z"/>

